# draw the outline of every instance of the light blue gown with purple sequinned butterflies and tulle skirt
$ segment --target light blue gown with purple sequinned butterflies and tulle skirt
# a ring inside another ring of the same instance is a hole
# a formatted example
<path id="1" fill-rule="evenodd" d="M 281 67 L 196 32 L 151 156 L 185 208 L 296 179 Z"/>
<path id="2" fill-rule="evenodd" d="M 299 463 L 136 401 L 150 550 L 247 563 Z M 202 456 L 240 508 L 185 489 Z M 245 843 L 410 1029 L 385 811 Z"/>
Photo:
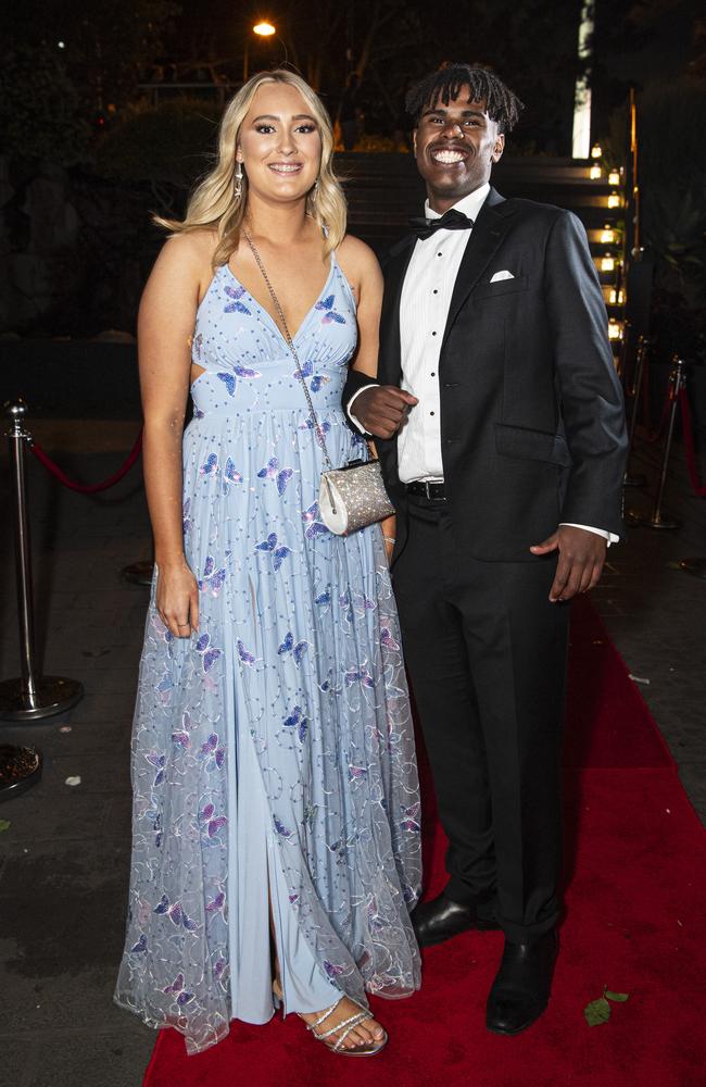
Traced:
<path id="1" fill-rule="evenodd" d="M 335 465 L 365 457 L 340 408 L 355 302 L 335 254 L 294 336 Z M 133 738 L 133 869 L 115 999 L 189 1052 L 273 1014 L 419 985 L 408 919 L 419 796 L 379 526 L 332 536 L 292 354 L 220 267 L 201 303 L 184 437 L 198 634 L 150 604 Z M 159 575 L 157 575 L 159 576 Z"/>

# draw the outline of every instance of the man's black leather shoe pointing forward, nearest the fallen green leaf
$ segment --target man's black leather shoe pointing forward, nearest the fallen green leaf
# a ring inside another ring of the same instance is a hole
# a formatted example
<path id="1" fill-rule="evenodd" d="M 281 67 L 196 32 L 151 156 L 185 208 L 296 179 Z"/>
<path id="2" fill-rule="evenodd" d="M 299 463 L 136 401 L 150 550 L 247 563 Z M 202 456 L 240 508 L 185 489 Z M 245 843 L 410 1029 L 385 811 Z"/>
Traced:
<path id="1" fill-rule="evenodd" d="M 493 1034 L 519 1034 L 550 1000 L 558 937 L 552 929 L 531 944 L 505 940 L 503 961 L 488 997 L 486 1026 Z"/>

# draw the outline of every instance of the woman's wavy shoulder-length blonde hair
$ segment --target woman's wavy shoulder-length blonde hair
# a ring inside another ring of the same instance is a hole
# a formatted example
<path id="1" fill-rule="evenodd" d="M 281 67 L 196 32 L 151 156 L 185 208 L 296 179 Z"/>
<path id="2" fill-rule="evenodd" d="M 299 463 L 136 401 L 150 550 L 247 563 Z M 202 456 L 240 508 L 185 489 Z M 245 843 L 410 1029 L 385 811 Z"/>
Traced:
<path id="1" fill-rule="evenodd" d="M 306 200 L 306 210 L 322 228 L 327 254 L 336 249 L 345 236 L 345 197 L 333 173 L 333 129 L 324 103 L 308 84 L 293 72 L 283 68 L 259 72 L 243 84 L 226 107 L 218 133 L 216 165 L 192 192 L 184 221 L 154 216 L 154 222 L 172 234 L 188 234 L 204 228 L 215 229 L 218 242 L 213 254 L 214 267 L 226 264 L 238 248 L 240 229 L 248 207 L 248 178 L 244 171 L 240 196 L 236 195 L 238 136 L 253 98 L 260 87 L 267 83 L 283 83 L 295 87 L 312 111 L 322 137 L 322 161 L 317 184 Z"/>

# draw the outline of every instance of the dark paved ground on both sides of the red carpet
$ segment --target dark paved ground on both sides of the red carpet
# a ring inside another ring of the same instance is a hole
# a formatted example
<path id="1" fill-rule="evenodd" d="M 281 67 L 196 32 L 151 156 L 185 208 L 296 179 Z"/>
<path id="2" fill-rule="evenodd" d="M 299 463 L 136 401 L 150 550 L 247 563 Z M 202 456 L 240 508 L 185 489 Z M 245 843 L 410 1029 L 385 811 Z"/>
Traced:
<path id="1" fill-rule="evenodd" d="M 62 448 L 62 464 L 94 479 L 114 470 L 136 424 L 45 421 L 35 433 Z M 643 447 L 634 467 L 652 476 L 654 460 L 654 449 Z M 138 1087 L 154 1035 L 113 1005 L 112 990 L 123 941 L 129 729 L 147 600 L 121 570 L 150 553 L 143 492 L 138 472 L 86 498 L 55 486 L 34 459 L 29 468 L 45 671 L 80 679 L 86 697 L 43 724 L 0 725 L 2 739 L 33 740 L 45 755 L 41 784 L 0 804 L 0 819 L 11 821 L 0 834 L 0 1087 Z M 650 680 L 640 690 L 706 822 L 706 580 L 671 565 L 706 557 L 706 501 L 690 496 L 680 455 L 668 495 L 684 527 L 631 529 L 627 544 L 610 551 L 594 599 L 632 674 Z M 648 509 L 644 495 L 629 497 Z M 0 676 L 9 677 L 18 671 L 9 525 L 0 555 Z M 66 726 L 71 732 L 62 732 Z M 74 775 L 81 784 L 72 788 L 64 783 Z"/>

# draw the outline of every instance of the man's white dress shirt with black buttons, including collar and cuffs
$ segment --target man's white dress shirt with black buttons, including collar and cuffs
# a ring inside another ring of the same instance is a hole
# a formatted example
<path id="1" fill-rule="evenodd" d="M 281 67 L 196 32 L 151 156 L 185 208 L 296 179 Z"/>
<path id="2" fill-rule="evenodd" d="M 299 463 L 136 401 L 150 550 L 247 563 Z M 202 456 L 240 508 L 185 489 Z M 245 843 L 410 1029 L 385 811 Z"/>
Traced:
<path id="1" fill-rule="evenodd" d="M 489 192 L 490 185 L 481 185 L 454 204 L 454 210 L 476 220 Z M 441 217 L 428 200 L 425 216 Z M 454 284 L 470 235 L 471 230 L 436 230 L 430 238 L 419 238 L 404 277 L 400 299 L 401 387 L 419 402 L 409 410 L 398 436 L 398 471 L 402 483 L 443 480 L 439 357 Z M 351 397 L 349 415 L 365 388 Z M 365 433 L 355 416 L 351 415 L 351 420 Z M 570 527 L 596 533 L 608 545 L 619 538 L 590 525 Z"/>

